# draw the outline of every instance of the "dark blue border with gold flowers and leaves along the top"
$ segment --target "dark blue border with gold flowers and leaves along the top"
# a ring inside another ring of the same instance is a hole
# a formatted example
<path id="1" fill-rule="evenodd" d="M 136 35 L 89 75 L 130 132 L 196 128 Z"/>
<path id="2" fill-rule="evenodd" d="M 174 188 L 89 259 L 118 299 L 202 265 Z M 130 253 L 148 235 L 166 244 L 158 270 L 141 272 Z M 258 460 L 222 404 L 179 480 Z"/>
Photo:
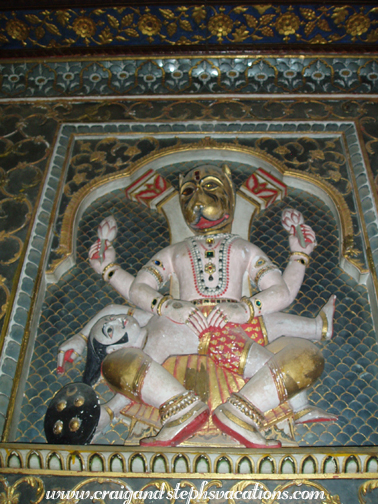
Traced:
<path id="1" fill-rule="evenodd" d="M 377 7 L 346 5 L 190 5 L 7 11 L 3 49 L 126 45 L 373 44 Z"/>

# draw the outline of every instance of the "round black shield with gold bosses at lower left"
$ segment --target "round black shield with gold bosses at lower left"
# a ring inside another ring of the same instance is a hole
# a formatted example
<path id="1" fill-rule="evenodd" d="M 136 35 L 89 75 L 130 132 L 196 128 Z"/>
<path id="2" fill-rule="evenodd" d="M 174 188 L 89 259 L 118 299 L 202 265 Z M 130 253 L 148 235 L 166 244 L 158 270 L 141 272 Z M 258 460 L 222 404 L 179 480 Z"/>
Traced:
<path id="1" fill-rule="evenodd" d="M 45 434 L 51 444 L 88 444 L 100 420 L 95 391 L 85 383 L 70 383 L 53 397 L 45 416 Z"/>

